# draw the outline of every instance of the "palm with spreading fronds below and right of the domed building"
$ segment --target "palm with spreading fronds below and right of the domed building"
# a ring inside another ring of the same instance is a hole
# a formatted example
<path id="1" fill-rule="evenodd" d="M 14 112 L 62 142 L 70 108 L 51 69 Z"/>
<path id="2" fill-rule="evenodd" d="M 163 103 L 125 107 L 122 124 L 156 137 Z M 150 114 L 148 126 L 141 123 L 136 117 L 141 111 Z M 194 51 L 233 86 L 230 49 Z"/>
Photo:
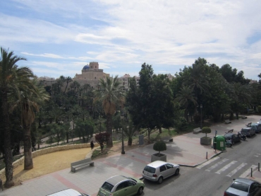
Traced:
<path id="1" fill-rule="evenodd" d="M 118 76 L 115 76 L 114 78 L 107 76 L 105 80 L 99 80 L 99 89 L 95 91 L 95 100 L 101 100 L 102 102 L 102 108 L 107 116 L 107 133 L 110 134 L 107 145 L 113 146 L 111 137 L 111 117 L 116 112 L 116 105 L 121 104 L 123 106 L 123 103 L 125 102 L 125 95 L 120 86 Z"/>

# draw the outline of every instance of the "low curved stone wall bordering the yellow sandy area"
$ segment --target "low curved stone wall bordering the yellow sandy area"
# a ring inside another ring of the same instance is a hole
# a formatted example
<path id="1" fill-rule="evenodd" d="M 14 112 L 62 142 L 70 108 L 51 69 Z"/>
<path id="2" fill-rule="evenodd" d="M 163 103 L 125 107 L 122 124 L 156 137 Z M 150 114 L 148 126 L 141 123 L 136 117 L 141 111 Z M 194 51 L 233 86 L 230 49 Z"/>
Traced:
<path id="1" fill-rule="evenodd" d="M 54 147 L 49 147 L 46 149 L 40 149 L 40 150 L 32 152 L 32 158 L 41 156 L 43 154 L 49 154 L 52 152 L 56 152 L 56 151 L 66 151 L 66 150 L 71 150 L 71 149 L 83 149 L 83 148 L 90 148 L 90 143 L 54 146 Z M 18 166 L 22 165 L 23 162 L 24 162 L 24 156 L 22 156 L 21 158 L 19 158 L 18 160 L 13 162 L 13 168 L 17 168 Z M 2 169 L 0 171 L 0 179 L 3 180 L 3 182 L 4 182 L 4 180 L 6 180 L 6 170 L 5 169 Z"/>

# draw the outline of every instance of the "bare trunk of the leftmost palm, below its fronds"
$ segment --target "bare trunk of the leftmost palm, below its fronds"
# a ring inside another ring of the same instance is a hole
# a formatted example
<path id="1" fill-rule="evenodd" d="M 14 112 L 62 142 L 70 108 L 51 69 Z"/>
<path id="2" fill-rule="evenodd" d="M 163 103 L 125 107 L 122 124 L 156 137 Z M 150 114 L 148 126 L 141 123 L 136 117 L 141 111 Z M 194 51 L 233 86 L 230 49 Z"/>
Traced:
<path id="1" fill-rule="evenodd" d="M 4 186 L 10 188 L 13 183 L 13 154 L 11 149 L 11 130 L 8 113 L 7 89 L 2 91 L 2 110 L 4 117 L 4 162 L 6 164 L 6 183 Z"/>

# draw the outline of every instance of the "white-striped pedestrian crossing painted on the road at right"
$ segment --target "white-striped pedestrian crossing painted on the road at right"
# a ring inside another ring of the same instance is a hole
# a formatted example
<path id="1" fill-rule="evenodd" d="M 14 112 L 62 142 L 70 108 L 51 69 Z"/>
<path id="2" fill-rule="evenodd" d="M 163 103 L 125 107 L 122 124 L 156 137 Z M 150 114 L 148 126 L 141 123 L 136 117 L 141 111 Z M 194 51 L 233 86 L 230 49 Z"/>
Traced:
<path id="1" fill-rule="evenodd" d="M 214 157 L 196 168 L 216 174 L 226 175 L 227 177 L 246 178 L 257 166 L 252 165 L 248 168 L 248 163 L 238 163 L 238 161 L 230 161 L 228 158 Z"/>

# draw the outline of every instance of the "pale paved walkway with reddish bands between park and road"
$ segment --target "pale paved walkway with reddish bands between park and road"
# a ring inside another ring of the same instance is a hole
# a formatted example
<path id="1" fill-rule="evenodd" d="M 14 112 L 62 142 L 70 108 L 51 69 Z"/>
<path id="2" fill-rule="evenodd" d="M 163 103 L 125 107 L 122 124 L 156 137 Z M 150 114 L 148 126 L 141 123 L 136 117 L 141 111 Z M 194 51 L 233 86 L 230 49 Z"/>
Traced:
<path id="1" fill-rule="evenodd" d="M 207 134 L 207 136 L 214 137 L 215 130 L 217 130 L 218 135 L 224 135 L 229 129 L 234 129 L 233 132 L 238 132 L 248 122 L 257 122 L 259 120 L 260 116 L 251 115 L 248 116 L 248 119 L 233 120 L 229 125 L 219 123 L 211 127 L 212 133 Z M 167 150 L 164 151 L 164 154 L 166 154 L 167 161 L 178 163 L 181 166 L 194 167 L 207 161 L 207 158 L 210 159 L 212 156 L 220 154 L 221 151 L 214 151 L 211 145 L 200 145 L 200 137 L 204 135 L 191 132 L 174 137 L 174 142 L 166 142 Z M 23 185 L 4 190 L 0 192 L 0 196 L 42 196 L 66 188 L 73 188 L 92 196 L 97 195 L 99 187 L 104 180 L 113 175 L 132 175 L 135 178 L 142 178 L 142 169 L 147 163 L 150 163 L 151 154 L 156 153 L 152 146 L 153 144 L 140 146 L 137 149 L 126 151 L 124 155 L 119 152 L 119 154 L 114 156 L 97 159 L 94 167 L 87 166 L 78 169 L 75 173 L 71 172 L 71 168 L 66 168 L 55 173 L 43 175 L 23 182 Z M 261 172 L 254 171 L 252 178 L 261 180 Z"/>

